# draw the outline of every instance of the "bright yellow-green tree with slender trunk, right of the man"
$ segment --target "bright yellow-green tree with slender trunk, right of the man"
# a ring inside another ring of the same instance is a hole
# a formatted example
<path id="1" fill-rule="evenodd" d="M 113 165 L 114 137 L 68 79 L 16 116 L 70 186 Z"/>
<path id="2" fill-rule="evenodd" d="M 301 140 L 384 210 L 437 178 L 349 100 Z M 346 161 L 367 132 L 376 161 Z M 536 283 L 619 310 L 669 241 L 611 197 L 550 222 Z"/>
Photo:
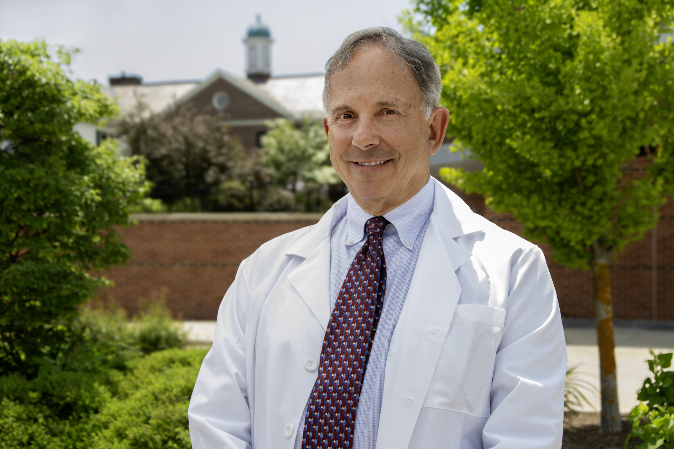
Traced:
<path id="1" fill-rule="evenodd" d="M 592 268 L 606 431 L 620 429 L 608 262 L 671 193 L 673 18 L 669 0 L 416 0 L 404 18 L 443 72 L 448 135 L 484 164 L 443 179 Z"/>

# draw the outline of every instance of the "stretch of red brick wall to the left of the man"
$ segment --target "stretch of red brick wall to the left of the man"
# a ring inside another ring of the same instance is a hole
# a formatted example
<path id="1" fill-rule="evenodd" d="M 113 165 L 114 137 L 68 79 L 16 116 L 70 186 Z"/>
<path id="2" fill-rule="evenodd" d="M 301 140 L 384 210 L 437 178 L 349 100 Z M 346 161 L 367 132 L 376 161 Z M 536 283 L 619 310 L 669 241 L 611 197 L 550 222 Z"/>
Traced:
<path id="1" fill-rule="evenodd" d="M 316 223 L 316 213 L 137 214 L 138 226 L 121 230 L 133 252 L 125 267 L 104 275 L 115 281 L 104 289 L 135 314 L 144 300 L 164 296 L 175 316 L 214 320 L 224 292 L 244 258 L 268 240 Z"/>

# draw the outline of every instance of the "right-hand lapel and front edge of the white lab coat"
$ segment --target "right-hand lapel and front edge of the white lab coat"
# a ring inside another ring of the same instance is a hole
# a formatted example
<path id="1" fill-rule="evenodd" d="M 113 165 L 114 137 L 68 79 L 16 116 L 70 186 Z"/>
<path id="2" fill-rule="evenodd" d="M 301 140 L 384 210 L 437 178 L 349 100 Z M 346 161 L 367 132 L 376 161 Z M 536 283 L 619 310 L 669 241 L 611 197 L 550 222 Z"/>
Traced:
<path id="1" fill-rule="evenodd" d="M 377 449 L 403 449 L 410 442 L 461 294 L 454 271 L 471 255 L 452 238 L 467 228 L 462 229 L 451 197 L 438 184 L 433 213 L 388 351 Z M 468 228 L 472 230 L 472 226 Z"/>

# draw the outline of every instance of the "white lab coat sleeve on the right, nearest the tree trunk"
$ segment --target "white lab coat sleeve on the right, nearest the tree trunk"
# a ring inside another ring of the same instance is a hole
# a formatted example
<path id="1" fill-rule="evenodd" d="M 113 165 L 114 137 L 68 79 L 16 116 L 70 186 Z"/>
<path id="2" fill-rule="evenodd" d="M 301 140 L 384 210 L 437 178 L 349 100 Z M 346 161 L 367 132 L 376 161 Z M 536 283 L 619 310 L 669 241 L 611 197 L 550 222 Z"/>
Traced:
<path id="1" fill-rule="evenodd" d="M 533 246 L 511 263 L 491 415 L 483 429 L 485 448 L 561 448 L 565 378 L 557 294 L 545 256 Z"/>

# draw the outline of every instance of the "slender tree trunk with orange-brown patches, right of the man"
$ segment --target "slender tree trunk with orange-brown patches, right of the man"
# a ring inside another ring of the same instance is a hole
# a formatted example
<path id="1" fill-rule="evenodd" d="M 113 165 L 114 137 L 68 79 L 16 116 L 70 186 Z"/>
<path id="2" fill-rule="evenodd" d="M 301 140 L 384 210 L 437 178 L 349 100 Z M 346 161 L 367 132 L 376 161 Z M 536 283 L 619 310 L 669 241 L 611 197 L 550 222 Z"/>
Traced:
<path id="1" fill-rule="evenodd" d="M 615 370 L 609 252 L 598 242 L 592 244 L 592 277 L 594 279 L 594 310 L 601 376 L 601 429 L 607 432 L 618 432 L 621 431 L 621 423 Z"/>

